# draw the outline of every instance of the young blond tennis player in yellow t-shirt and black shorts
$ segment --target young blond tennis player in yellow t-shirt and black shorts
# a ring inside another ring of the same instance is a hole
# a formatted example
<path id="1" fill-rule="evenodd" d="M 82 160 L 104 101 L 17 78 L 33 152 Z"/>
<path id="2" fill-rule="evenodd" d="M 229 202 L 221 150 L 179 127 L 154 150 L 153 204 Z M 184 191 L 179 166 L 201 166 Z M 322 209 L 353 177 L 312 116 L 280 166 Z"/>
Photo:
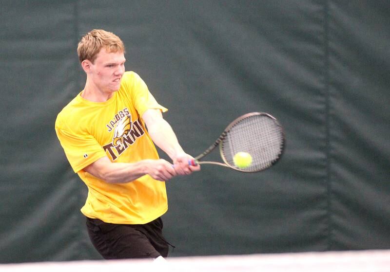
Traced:
<path id="1" fill-rule="evenodd" d="M 78 44 L 87 74 L 82 90 L 59 113 L 56 132 L 73 170 L 88 187 L 81 212 L 93 245 L 106 259 L 168 255 L 162 216 L 165 183 L 199 171 L 191 166 L 144 81 L 125 72 L 120 38 L 92 30 Z M 159 159 L 158 145 L 173 163 Z"/>

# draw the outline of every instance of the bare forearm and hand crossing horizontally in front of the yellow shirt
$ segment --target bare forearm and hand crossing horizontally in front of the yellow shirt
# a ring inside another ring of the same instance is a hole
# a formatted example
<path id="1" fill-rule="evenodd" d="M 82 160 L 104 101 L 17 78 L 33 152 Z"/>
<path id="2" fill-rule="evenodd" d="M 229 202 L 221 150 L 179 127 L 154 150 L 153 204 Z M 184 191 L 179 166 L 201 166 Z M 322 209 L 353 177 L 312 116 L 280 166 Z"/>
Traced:
<path id="1" fill-rule="evenodd" d="M 167 181 L 176 176 L 172 164 L 162 159 L 112 163 L 108 157 L 103 157 L 86 166 L 84 171 L 107 183 L 127 183 L 147 174 L 157 181 Z"/>

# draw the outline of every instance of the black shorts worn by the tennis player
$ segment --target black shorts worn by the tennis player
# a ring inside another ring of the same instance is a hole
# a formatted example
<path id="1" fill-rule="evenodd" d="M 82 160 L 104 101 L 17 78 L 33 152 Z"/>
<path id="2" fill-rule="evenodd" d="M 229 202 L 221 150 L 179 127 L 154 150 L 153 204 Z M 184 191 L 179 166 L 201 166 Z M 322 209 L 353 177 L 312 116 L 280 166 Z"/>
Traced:
<path id="1" fill-rule="evenodd" d="M 162 220 L 143 225 L 111 224 L 87 218 L 92 244 L 105 259 L 168 256 L 169 243 L 162 236 Z"/>

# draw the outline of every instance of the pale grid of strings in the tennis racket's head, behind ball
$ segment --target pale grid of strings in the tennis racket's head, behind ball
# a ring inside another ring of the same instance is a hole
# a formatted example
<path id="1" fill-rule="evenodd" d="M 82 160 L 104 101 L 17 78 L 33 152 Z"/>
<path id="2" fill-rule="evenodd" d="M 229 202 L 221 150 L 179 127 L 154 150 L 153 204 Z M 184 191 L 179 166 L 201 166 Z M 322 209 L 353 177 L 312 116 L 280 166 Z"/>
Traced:
<path id="1" fill-rule="evenodd" d="M 283 131 L 277 122 L 266 115 L 244 118 L 228 132 L 221 145 L 221 155 L 226 163 L 234 165 L 234 155 L 247 152 L 252 163 L 244 170 L 259 171 L 276 162 L 283 150 Z"/>

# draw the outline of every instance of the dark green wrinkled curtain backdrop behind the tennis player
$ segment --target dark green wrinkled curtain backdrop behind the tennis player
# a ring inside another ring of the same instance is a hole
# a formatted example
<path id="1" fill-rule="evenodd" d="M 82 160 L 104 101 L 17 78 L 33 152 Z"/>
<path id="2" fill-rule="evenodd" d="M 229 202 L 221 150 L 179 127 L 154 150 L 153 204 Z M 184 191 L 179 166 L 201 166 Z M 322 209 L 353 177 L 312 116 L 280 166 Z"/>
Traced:
<path id="1" fill-rule="evenodd" d="M 285 127 L 272 169 L 167 183 L 171 256 L 390 248 L 389 26 L 387 0 L 2 0 L 0 262 L 100 258 L 54 131 L 94 28 L 122 37 L 189 153 L 246 112 Z"/>

